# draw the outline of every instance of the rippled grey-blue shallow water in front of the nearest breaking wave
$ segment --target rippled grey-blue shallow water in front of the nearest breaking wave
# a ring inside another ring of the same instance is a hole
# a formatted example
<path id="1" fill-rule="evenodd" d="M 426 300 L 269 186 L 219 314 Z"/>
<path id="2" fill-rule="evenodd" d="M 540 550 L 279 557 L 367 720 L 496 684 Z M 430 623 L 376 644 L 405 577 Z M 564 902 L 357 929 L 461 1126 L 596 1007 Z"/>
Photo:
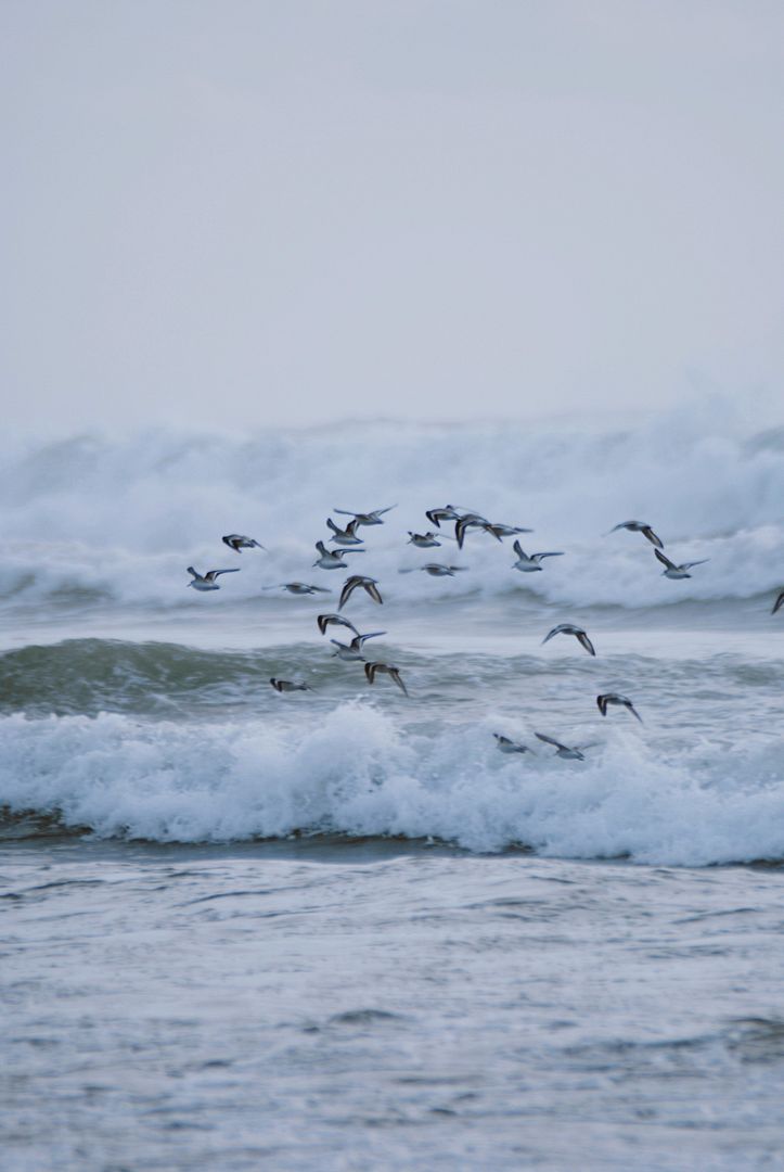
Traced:
<path id="1" fill-rule="evenodd" d="M 9 1172 L 780 1166 L 776 871 L 56 841 L 2 895 Z"/>

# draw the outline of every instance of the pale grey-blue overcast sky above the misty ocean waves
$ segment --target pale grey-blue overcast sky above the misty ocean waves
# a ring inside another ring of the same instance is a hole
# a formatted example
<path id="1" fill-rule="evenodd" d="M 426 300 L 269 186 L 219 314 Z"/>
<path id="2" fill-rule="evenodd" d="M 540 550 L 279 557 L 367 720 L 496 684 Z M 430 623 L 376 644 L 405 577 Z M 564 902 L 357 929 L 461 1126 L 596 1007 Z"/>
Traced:
<path id="1" fill-rule="evenodd" d="M 784 398 L 784 6 L 4 0 L 8 425 Z"/>

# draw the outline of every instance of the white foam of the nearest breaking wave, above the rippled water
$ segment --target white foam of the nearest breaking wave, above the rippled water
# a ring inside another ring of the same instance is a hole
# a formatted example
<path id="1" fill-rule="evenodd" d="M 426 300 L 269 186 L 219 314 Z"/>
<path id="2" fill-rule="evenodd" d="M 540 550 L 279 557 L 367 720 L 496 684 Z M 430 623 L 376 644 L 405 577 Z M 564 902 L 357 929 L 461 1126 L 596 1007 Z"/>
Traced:
<path id="1" fill-rule="evenodd" d="M 0 722 L 0 805 L 158 841 L 306 831 L 670 865 L 784 858 L 780 740 L 737 751 L 697 742 L 664 756 L 613 730 L 580 763 L 547 749 L 506 758 L 493 727 L 411 736 L 361 704 L 305 735 L 268 721 L 16 715 Z"/>

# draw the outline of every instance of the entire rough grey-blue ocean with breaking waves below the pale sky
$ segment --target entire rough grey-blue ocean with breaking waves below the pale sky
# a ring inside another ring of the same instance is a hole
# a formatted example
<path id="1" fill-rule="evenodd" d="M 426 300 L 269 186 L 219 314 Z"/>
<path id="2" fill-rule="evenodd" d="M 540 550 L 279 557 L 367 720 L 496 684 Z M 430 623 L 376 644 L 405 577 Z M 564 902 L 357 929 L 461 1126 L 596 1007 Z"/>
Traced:
<path id="1" fill-rule="evenodd" d="M 4 443 L 4 1170 L 784 1166 L 784 428 Z"/>

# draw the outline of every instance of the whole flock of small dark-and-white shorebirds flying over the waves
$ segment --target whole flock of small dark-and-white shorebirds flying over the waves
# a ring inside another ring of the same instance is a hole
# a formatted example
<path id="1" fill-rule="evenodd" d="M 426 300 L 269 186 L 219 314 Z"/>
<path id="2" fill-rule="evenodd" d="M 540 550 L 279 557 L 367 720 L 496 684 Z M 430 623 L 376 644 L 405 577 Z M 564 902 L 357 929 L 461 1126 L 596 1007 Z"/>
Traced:
<path id="1" fill-rule="evenodd" d="M 359 530 L 363 526 L 375 526 L 383 525 L 383 517 L 386 513 L 390 512 L 396 505 L 388 505 L 386 509 L 374 509 L 370 512 L 353 512 L 348 509 L 335 509 L 333 512 L 341 517 L 350 517 L 352 519 L 342 525 L 336 524 L 332 517 L 327 518 L 327 529 L 330 531 L 330 537 L 327 540 L 332 544 L 332 548 L 326 545 L 323 540 L 315 543 L 315 550 L 318 553 L 316 560 L 313 563 L 313 567 L 316 566 L 321 570 L 347 570 L 348 563 L 346 558 L 350 554 L 363 553 L 364 552 L 364 539 L 359 534 Z M 530 529 L 524 529 L 518 525 L 506 525 L 502 523 L 490 522 L 479 513 L 471 510 L 459 509 L 455 505 L 444 505 L 441 509 L 430 509 L 425 512 L 425 516 L 435 530 L 428 530 L 425 533 L 416 533 L 408 530 L 408 545 L 413 545 L 420 550 L 429 550 L 441 547 L 444 540 L 456 541 L 459 550 L 463 548 L 468 533 L 471 530 L 489 533 L 495 537 L 496 540 L 503 541 L 505 537 L 514 537 L 512 548 L 516 554 L 516 561 L 512 564 L 513 570 L 518 570 L 521 573 L 534 573 L 540 572 L 544 566 L 541 563 L 545 558 L 560 558 L 564 556 L 563 550 L 540 552 L 540 553 L 526 553 L 520 545 L 519 536 L 520 533 L 533 532 Z M 445 533 L 442 530 L 442 524 L 451 523 L 455 524 L 454 536 Z M 620 524 L 614 525 L 613 529 L 605 536 L 609 533 L 615 533 L 619 530 L 627 530 L 632 533 L 641 533 L 646 540 L 648 540 L 654 546 L 654 556 L 663 565 L 662 575 L 669 579 L 683 579 L 690 578 L 689 573 L 695 566 L 704 565 L 709 559 L 702 558 L 698 561 L 683 561 L 680 565 L 671 561 L 667 554 L 663 552 L 664 544 L 660 537 L 654 532 L 653 527 L 647 522 L 641 520 L 625 520 Z M 252 537 L 246 537 L 243 533 L 227 533 L 221 538 L 224 545 L 233 550 L 234 553 L 241 553 L 243 550 L 265 550 L 265 546 L 257 541 Z M 454 566 L 448 563 L 441 561 L 428 561 L 422 566 L 415 566 L 410 568 L 404 568 L 398 571 L 400 573 L 413 573 L 416 570 L 424 571 L 434 578 L 442 577 L 454 577 L 459 571 L 466 570 L 466 566 Z M 232 574 L 239 571 L 239 566 L 234 566 L 227 570 L 210 570 L 205 574 L 198 573 L 193 566 L 188 567 L 188 572 L 191 574 L 191 581 L 188 582 L 189 586 L 193 587 L 196 591 L 216 591 L 220 586 L 217 579 L 221 574 Z M 285 590 L 289 594 L 302 595 L 302 594 L 328 594 L 330 591 L 325 586 L 315 586 L 311 582 L 302 581 L 289 581 L 280 582 L 275 586 L 265 586 L 264 590 Z M 366 660 L 363 655 L 364 643 L 370 639 L 379 639 L 381 635 L 387 634 L 386 631 L 371 631 L 368 633 L 360 633 L 353 622 L 341 614 L 343 607 L 349 601 L 352 595 L 356 591 L 363 591 L 368 598 L 370 598 L 379 606 L 383 605 L 383 599 L 379 590 L 379 582 L 375 578 L 369 578 L 363 574 L 350 574 L 343 582 L 342 590 L 340 592 L 340 601 L 338 605 L 336 613 L 325 613 L 319 614 L 316 618 L 316 624 L 319 631 L 325 635 L 330 626 L 345 627 L 353 633 L 350 642 L 341 642 L 339 639 L 330 639 L 330 642 L 335 646 L 335 652 L 333 655 L 345 662 L 353 663 L 359 662 L 364 667 L 364 675 L 368 683 L 375 683 L 376 675 L 388 675 L 389 679 L 400 688 L 403 695 L 408 696 L 408 688 L 400 674 L 400 668 L 394 663 L 384 663 L 379 660 Z M 784 590 L 779 592 L 775 602 L 772 613 L 784 606 Z M 551 639 L 557 635 L 572 635 L 578 643 L 588 653 L 588 655 L 596 654 L 595 648 L 588 638 L 587 632 L 582 627 L 575 626 L 573 622 L 560 622 L 558 626 L 553 627 L 547 632 L 543 639 L 543 645 L 547 643 Z M 311 691 L 309 684 L 304 683 L 299 680 L 281 680 L 277 676 L 272 676 L 270 680 L 271 686 L 279 693 L 291 693 L 291 691 Z M 609 707 L 618 707 L 626 709 L 632 716 L 636 717 L 638 721 L 642 723 L 642 717 L 638 713 L 634 703 L 627 697 L 619 693 L 604 693 L 596 696 L 596 704 L 599 711 L 602 716 L 607 715 Z M 496 738 L 496 744 L 498 749 L 504 754 L 524 754 L 532 752 L 529 745 L 523 744 L 517 741 L 512 741 L 510 737 L 503 736 L 499 732 L 493 734 Z M 560 741 L 545 735 L 544 732 L 534 732 L 534 736 L 544 742 L 545 744 L 552 745 L 555 749 L 555 755 L 565 759 L 585 759 L 585 749 L 591 748 L 591 744 L 584 745 L 566 745 Z"/>

